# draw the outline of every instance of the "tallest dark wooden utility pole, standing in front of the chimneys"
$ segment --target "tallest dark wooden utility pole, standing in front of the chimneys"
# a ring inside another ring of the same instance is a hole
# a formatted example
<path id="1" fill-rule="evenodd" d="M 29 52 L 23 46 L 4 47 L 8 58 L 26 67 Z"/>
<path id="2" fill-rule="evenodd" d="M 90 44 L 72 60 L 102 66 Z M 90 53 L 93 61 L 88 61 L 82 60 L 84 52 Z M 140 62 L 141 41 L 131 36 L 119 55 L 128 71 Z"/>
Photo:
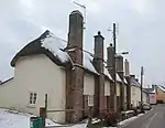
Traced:
<path id="1" fill-rule="evenodd" d="M 117 42 L 116 42 L 116 23 L 113 23 L 113 49 L 114 49 L 114 62 L 113 62 L 113 73 L 114 73 L 114 110 L 117 109 L 117 62 L 116 62 L 116 56 L 117 56 Z"/>

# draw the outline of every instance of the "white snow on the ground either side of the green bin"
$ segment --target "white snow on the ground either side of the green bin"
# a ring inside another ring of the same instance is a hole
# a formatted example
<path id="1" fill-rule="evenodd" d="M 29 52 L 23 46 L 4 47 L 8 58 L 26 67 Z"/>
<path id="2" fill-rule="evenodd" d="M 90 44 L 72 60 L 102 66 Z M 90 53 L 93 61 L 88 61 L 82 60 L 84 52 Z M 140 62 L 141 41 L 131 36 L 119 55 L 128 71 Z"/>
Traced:
<path id="1" fill-rule="evenodd" d="M 30 117 L 33 115 L 19 113 L 15 110 L 0 109 L 0 128 L 30 128 Z M 75 125 L 67 128 L 86 128 L 87 124 Z M 61 126 L 54 121 L 46 119 L 46 126 Z M 50 127 L 52 128 L 52 127 Z M 57 128 L 57 127 L 56 127 Z"/>

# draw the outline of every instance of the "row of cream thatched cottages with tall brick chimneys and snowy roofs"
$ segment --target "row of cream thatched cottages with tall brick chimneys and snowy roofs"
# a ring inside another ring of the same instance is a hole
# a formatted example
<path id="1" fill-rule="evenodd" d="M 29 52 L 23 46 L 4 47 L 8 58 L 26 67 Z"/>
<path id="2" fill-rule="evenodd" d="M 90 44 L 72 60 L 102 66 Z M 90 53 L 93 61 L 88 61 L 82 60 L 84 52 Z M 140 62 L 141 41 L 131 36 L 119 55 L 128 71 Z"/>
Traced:
<path id="1" fill-rule="evenodd" d="M 73 11 L 68 42 L 46 31 L 16 53 L 11 61 L 14 77 L 0 86 L 0 107 L 38 115 L 47 94 L 48 110 L 75 109 L 48 113 L 47 116 L 58 122 L 75 122 L 88 115 L 88 110 L 80 110 L 82 108 L 91 107 L 94 115 L 98 115 L 103 109 L 121 110 L 124 105 L 129 108 L 133 100 L 135 104 L 139 97 L 131 96 L 130 76 L 123 75 L 123 57 L 117 57 L 114 87 L 113 46 L 107 49 L 108 61 L 105 63 L 103 36 L 98 32 L 95 53 L 84 51 L 82 24 L 82 14 Z"/>

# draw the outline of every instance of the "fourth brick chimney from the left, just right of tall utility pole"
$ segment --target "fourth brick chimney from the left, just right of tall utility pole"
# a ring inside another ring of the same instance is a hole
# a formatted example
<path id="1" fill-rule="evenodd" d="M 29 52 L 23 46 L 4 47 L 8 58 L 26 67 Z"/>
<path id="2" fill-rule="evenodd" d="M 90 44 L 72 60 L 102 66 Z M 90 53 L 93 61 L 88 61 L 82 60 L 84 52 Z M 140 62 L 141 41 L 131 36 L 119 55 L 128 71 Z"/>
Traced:
<path id="1" fill-rule="evenodd" d="M 117 73 L 119 74 L 122 82 L 124 82 L 123 56 L 122 55 L 117 55 L 116 56 L 116 62 L 117 62 Z M 124 105 L 124 84 L 121 84 L 121 86 L 120 86 L 120 106 L 121 106 L 121 110 L 123 110 L 123 105 Z"/>

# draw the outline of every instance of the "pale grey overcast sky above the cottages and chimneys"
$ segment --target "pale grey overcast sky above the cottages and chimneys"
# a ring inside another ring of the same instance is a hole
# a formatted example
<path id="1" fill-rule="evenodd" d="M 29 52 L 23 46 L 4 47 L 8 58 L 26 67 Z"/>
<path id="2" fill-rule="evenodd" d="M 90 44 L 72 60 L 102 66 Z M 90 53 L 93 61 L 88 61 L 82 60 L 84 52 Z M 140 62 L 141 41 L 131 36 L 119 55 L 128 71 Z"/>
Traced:
<path id="1" fill-rule="evenodd" d="M 165 1 L 164 0 L 77 0 L 86 4 L 85 47 L 94 50 L 94 35 L 101 31 L 109 45 L 112 22 L 118 22 L 118 51 L 129 51 L 131 73 L 145 84 L 165 83 Z M 10 61 L 29 41 L 45 29 L 67 40 L 68 14 L 81 8 L 72 0 L 0 0 L 0 78 L 13 76 Z"/>

